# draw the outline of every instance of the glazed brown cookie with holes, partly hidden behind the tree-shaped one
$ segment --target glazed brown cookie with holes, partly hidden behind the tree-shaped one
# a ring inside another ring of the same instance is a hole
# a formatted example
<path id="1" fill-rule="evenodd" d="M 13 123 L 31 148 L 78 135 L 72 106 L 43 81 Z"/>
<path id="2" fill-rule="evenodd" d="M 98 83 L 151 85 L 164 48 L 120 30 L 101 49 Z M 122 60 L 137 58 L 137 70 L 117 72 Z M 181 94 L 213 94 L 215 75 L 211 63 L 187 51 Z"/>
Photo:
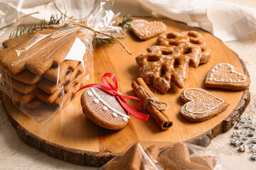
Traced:
<path id="1" fill-rule="evenodd" d="M 210 50 L 206 47 L 206 42 L 203 40 L 201 33 L 195 30 L 183 31 L 181 33 L 161 33 L 157 38 L 158 45 L 164 45 L 166 47 L 176 47 L 189 43 L 201 47 L 202 56 L 200 63 L 206 63 L 210 60 Z"/>

